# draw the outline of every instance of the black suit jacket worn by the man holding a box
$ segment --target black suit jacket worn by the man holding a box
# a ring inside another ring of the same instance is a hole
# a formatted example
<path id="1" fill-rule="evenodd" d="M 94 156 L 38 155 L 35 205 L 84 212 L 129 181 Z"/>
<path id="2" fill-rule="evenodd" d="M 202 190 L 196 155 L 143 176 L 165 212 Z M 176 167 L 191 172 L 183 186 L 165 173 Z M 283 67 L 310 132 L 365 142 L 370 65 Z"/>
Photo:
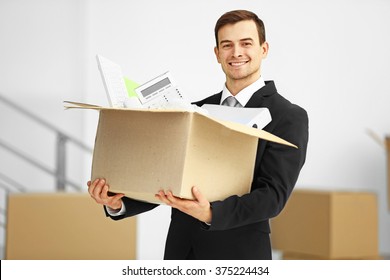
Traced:
<path id="1" fill-rule="evenodd" d="M 220 104 L 222 92 L 196 105 Z M 164 259 L 271 259 L 269 219 L 277 216 L 289 198 L 305 162 L 308 117 L 301 107 L 278 94 L 273 81 L 255 92 L 245 107 L 266 107 L 272 121 L 264 130 L 298 149 L 259 141 L 251 192 L 211 202 L 211 226 L 172 209 Z M 133 216 L 156 207 L 123 198 Z"/>

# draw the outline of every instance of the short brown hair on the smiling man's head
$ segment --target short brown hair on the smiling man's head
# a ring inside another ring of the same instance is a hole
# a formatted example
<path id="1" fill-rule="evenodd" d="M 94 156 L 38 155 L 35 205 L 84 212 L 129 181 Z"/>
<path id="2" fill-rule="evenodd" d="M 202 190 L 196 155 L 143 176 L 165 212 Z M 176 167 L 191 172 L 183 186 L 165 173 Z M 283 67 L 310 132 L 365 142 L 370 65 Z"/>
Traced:
<path id="1" fill-rule="evenodd" d="M 253 20 L 257 27 L 257 32 L 259 34 L 260 45 L 265 42 L 265 27 L 263 21 L 253 12 L 246 10 L 234 10 L 223 14 L 215 24 L 214 34 L 215 42 L 218 47 L 218 31 L 225 25 L 235 24 L 243 20 Z"/>

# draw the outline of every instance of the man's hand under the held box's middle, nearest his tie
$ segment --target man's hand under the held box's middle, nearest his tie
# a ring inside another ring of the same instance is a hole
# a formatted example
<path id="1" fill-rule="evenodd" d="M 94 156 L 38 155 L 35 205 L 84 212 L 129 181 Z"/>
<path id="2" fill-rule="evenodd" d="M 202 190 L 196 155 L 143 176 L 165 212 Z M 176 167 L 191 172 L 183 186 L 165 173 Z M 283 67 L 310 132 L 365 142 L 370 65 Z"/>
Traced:
<path id="1" fill-rule="evenodd" d="M 202 195 L 198 188 L 192 188 L 192 194 L 195 200 L 183 199 L 174 196 L 171 191 L 159 191 L 156 197 L 163 203 L 186 213 L 195 219 L 205 223 L 211 223 L 212 211 L 210 202 Z"/>

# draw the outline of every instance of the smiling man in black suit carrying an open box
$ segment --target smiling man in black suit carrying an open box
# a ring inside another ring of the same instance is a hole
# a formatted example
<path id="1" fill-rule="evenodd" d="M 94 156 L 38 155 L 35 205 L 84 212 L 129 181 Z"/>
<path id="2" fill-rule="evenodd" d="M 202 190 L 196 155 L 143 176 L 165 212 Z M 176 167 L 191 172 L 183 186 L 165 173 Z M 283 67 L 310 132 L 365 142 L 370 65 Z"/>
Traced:
<path id="1" fill-rule="evenodd" d="M 262 79 L 261 62 L 268 43 L 263 22 L 255 14 L 238 10 L 222 15 L 215 38 L 214 51 L 226 83 L 222 92 L 195 104 L 222 104 L 234 96 L 239 102 L 236 106 L 267 107 L 272 122 L 264 130 L 299 148 L 259 141 L 251 192 L 241 197 L 209 202 L 196 186 L 192 189 L 195 200 L 159 191 L 156 197 L 172 207 L 164 259 L 272 259 L 269 219 L 283 209 L 305 162 L 308 117 L 304 109 L 277 93 L 274 82 Z M 103 179 L 88 186 L 91 196 L 115 220 L 157 206 L 123 194 L 108 196 Z"/>

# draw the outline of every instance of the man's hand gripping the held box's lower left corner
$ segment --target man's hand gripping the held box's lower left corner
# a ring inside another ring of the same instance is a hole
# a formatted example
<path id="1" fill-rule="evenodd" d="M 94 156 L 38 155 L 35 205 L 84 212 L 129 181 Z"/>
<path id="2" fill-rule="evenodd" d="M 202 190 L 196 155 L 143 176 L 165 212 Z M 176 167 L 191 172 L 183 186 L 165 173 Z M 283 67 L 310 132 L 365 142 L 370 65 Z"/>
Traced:
<path id="1" fill-rule="evenodd" d="M 113 210 L 122 208 L 121 198 L 125 195 L 123 193 L 118 193 L 113 196 L 108 195 L 106 180 L 96 179 L 93 182 L 88 181 L 87 185 L 89 194 L 97 203 L 108 206 Z"/>

